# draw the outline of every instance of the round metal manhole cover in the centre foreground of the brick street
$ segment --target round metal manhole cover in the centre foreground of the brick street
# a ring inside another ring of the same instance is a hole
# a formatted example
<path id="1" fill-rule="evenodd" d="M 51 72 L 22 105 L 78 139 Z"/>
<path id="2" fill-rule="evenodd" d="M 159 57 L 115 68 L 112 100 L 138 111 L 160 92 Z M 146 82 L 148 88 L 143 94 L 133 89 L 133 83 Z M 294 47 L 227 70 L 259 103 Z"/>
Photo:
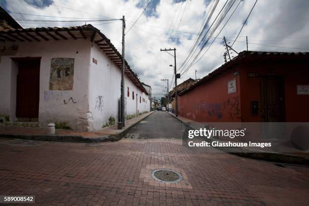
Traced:
<path id="1" fill-rule="evenodd" d="M 176 183 L 182 180 L 182 175 L 179 172 L 169 169 L 152 170 L 151 177 L 166 183 Z"/>

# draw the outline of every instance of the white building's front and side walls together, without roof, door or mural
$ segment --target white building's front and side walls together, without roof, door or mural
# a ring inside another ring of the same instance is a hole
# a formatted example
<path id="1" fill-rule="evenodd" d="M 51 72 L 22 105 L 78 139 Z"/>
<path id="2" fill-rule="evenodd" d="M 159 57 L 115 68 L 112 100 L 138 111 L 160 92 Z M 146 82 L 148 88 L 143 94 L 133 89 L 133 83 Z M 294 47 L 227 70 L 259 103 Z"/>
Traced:
<path id="1" fill-rule="evenodd" d="M 89 39 L 70 39 L 12 42 L 1 45 L 10 47 L 13 44 L 18 45 L 17 53 L 14 56 L 2 56 L 0 62 L 0 88 L 2 88 L 0 114 L 10 115 L 10 121 L 16 120 L 18 65 L 11 58 L 41 57 L 38 116 L 40 127 L 58 121 L 68 122 L 68 125 L 75 130 L 92 131 L 102 128 L 110 117 L 118 121 L 121 70 L 96 44 L 92 45 Z M 73 90 L 48 90 L 52 58 L 74 58 Z M 92 58 L 97 64 L 93 63 Z M 132 91 L 135 95 L 134 100 Z M 145 101 L 140 102 L 140 96 Z M 127 76 L 125 76 L 125 102 L 126 115 L 149 111 L 150 108 L 148 96 Z"/>

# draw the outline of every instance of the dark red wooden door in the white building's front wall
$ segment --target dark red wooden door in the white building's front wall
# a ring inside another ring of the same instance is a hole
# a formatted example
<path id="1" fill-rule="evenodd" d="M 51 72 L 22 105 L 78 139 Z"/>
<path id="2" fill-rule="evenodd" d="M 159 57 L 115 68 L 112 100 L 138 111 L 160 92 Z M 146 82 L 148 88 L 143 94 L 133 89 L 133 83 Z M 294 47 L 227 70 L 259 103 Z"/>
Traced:
<path id="1" fill-rule="evenodd" d="M 16 117 L 38 118 L 40 60 L 18 61 Z"/>

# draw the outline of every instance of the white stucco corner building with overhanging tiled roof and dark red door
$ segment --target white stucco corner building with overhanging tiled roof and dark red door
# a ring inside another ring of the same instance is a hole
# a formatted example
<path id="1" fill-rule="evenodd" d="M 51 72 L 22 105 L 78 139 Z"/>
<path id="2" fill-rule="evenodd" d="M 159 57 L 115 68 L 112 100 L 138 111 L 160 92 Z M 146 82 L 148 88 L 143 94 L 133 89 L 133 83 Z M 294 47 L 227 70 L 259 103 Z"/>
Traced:
<path id="1" fill-rule="evenodd" d="M 117 122 L 122 56 L 95 27 L 6 29 L 0 58 L 0 114 L 10 121 L 83 131 Z M 149 111 L 147 94 L 126 62 L 125 114 Z"/>

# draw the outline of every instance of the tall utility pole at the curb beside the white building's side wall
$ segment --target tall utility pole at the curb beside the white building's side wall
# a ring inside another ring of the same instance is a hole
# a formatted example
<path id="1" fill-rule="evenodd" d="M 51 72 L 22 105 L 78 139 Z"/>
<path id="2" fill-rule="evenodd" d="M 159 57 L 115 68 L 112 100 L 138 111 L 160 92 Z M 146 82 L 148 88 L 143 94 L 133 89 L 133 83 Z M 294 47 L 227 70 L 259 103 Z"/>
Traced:
<path id="1" fill-rule="evenodd" d="M 120 96 L 120 106 L 121 106 L 121 115 L 120 121 L 121 126 L 118 124 L 118 129 L 122 129 L 125 126 L 125 101 L 124 101 L 124 64 L 125 64 L 125 17 L 122 16 L 122 65 L 121 65 L 121 96 Z"/>

